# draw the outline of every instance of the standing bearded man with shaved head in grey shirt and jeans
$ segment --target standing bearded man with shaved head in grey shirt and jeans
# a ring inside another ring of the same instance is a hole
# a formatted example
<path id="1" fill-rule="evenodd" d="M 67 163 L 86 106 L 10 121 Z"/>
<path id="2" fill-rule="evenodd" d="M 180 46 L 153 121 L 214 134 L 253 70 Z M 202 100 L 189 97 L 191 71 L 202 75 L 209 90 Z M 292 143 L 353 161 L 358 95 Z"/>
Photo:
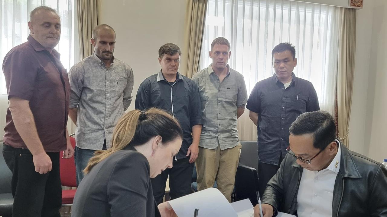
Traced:
<path id="1" fill-rule="evenodd" d="M 92 33 L 94 53 L 75 64 L 70 78 L 69 116 L 75 130 L 77 184 L 95 150 L 110 148 L 113 128 L 132 102 L 133 71 L 113 56 L 115 31 L 106 24 Z"/>

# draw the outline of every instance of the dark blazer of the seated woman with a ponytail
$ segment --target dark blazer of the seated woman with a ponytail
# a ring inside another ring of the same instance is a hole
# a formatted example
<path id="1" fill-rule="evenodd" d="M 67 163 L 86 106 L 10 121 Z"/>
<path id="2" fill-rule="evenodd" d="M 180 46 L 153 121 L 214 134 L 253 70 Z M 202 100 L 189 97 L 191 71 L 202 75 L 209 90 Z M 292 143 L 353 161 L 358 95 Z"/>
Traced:
<path id="1" fill-rule="evenodd" d="M 75 194 L 72 217 L 158 217 L 149 163 L 134 148 L 96 164 Z"/>

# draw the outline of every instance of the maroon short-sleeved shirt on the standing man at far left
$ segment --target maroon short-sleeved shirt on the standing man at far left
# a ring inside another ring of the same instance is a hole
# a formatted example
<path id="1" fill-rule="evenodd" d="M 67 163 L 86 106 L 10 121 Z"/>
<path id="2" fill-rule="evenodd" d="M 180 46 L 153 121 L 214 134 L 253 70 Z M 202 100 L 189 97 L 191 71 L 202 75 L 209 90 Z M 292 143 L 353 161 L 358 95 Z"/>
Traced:
<path id="1" fill-rule="evenodd" d="M 55 49 L 51 54 L 31 35 L 27 40 L 12 48 L 3 61 L 8 99 L 18 97 L 29 101 L 45 151 L 59 152 L 66 149 L 70 96 L 67 71 Z M 27 148 L 15 128 L 9 108 L 4 131 L 5 144 Z"/>

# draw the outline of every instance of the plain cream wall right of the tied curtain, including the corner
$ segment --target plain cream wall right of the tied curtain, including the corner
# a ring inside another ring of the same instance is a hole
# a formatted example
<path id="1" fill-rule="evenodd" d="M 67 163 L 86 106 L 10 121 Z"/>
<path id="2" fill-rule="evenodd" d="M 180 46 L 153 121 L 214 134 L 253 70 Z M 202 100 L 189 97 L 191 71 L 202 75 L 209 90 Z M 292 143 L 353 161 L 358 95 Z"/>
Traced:
<path id="1" fill-rule="evenodd" d="M 350 149 L 387 158 L 387 1 L 367 1 L 357 12 L 356 64 L 349 126 Z"/>

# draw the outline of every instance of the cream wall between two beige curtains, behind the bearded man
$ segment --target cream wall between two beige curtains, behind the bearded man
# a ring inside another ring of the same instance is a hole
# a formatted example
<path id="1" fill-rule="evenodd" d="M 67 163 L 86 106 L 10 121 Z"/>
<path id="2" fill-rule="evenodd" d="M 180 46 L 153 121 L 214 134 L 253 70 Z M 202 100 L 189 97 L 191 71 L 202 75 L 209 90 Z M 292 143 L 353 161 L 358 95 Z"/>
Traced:
<path id="1" fill-rule="evenodd" d="M 159 48 L 168 42 L 183 47 L 186 2 L 98 0 L 98 22 L 116 31 L 114 56 L 129 64 L 134 72 L 133 100 L 129 109 L 134 109 L 140 83 L 161 69 Z"/>

